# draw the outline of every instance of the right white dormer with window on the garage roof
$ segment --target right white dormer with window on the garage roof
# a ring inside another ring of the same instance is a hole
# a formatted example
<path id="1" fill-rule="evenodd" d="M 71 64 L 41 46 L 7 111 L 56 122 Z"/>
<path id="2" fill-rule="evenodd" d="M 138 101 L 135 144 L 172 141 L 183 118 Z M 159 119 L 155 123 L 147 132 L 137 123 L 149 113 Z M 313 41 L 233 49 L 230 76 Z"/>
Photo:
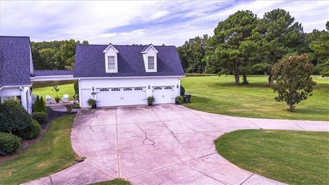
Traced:
<path id="1" fill-rule="evenodd" d="M 157 71 L 156 53 L 158 53 L 156 48 L 154 48 L 153 45 L 147 45 L 146 47 L 143 48 L 141 53 L 143 54 L 145 71 L 156 72 Z"/>

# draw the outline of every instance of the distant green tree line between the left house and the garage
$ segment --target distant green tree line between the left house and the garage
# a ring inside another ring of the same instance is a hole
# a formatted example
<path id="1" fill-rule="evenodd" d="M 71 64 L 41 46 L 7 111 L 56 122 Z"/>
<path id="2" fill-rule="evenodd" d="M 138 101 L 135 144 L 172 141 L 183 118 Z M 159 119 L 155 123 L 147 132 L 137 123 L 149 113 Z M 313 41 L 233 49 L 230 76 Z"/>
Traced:
<path id="1" fill-rule="evenodd" d="M 79 44 L 88 45 L 88 41 L 84 40 L 81 43 L 79 40 L 71 39 L 31 42 L 34 69 L 73 69 L 75 47 Z"/>

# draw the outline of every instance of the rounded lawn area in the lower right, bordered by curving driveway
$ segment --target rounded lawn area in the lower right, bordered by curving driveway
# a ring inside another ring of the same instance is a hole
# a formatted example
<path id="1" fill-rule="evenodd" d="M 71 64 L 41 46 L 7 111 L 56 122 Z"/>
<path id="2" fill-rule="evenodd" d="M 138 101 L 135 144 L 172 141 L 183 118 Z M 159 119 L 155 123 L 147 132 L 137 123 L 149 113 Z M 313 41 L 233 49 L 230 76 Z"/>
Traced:
<path id="1" fill-rule="evenodd" d="M 237 166 L 288 184 L 329 184 L 326 132 L 239 130 L 223 134 L 218 153 Z"/>

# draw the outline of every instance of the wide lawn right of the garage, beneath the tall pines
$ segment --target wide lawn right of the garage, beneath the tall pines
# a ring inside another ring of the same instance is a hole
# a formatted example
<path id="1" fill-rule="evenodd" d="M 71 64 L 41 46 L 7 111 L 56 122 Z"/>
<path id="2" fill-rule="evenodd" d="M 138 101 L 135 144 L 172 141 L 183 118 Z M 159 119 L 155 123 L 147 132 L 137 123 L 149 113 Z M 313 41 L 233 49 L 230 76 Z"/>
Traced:
<path id="1" fill-rule="evenodd" d="M 266 76 L 249 76 L 248 85 L 234 86 L 232 76 L 184 77 L 182 86 L 192 95 L 188 108 L 226 114 L 270 119 L 329 120 L 329 79 L 317 82 L 313 96 L 289 112 L 285 102 L 276 102 L 276 93 L 267 87 Z"/>

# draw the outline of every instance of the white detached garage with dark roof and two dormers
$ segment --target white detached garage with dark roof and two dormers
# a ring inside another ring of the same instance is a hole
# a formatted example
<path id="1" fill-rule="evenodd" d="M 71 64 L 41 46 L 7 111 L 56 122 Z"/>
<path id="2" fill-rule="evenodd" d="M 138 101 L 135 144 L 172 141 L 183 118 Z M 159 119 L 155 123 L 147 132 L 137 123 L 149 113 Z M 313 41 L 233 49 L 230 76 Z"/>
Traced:
<path id="1" fill-rule="evenodd" d="M 184 71 L 174 46 L 77 45 L 73 78 L 79 81 L 80 106 L 174 103 Z"/>

